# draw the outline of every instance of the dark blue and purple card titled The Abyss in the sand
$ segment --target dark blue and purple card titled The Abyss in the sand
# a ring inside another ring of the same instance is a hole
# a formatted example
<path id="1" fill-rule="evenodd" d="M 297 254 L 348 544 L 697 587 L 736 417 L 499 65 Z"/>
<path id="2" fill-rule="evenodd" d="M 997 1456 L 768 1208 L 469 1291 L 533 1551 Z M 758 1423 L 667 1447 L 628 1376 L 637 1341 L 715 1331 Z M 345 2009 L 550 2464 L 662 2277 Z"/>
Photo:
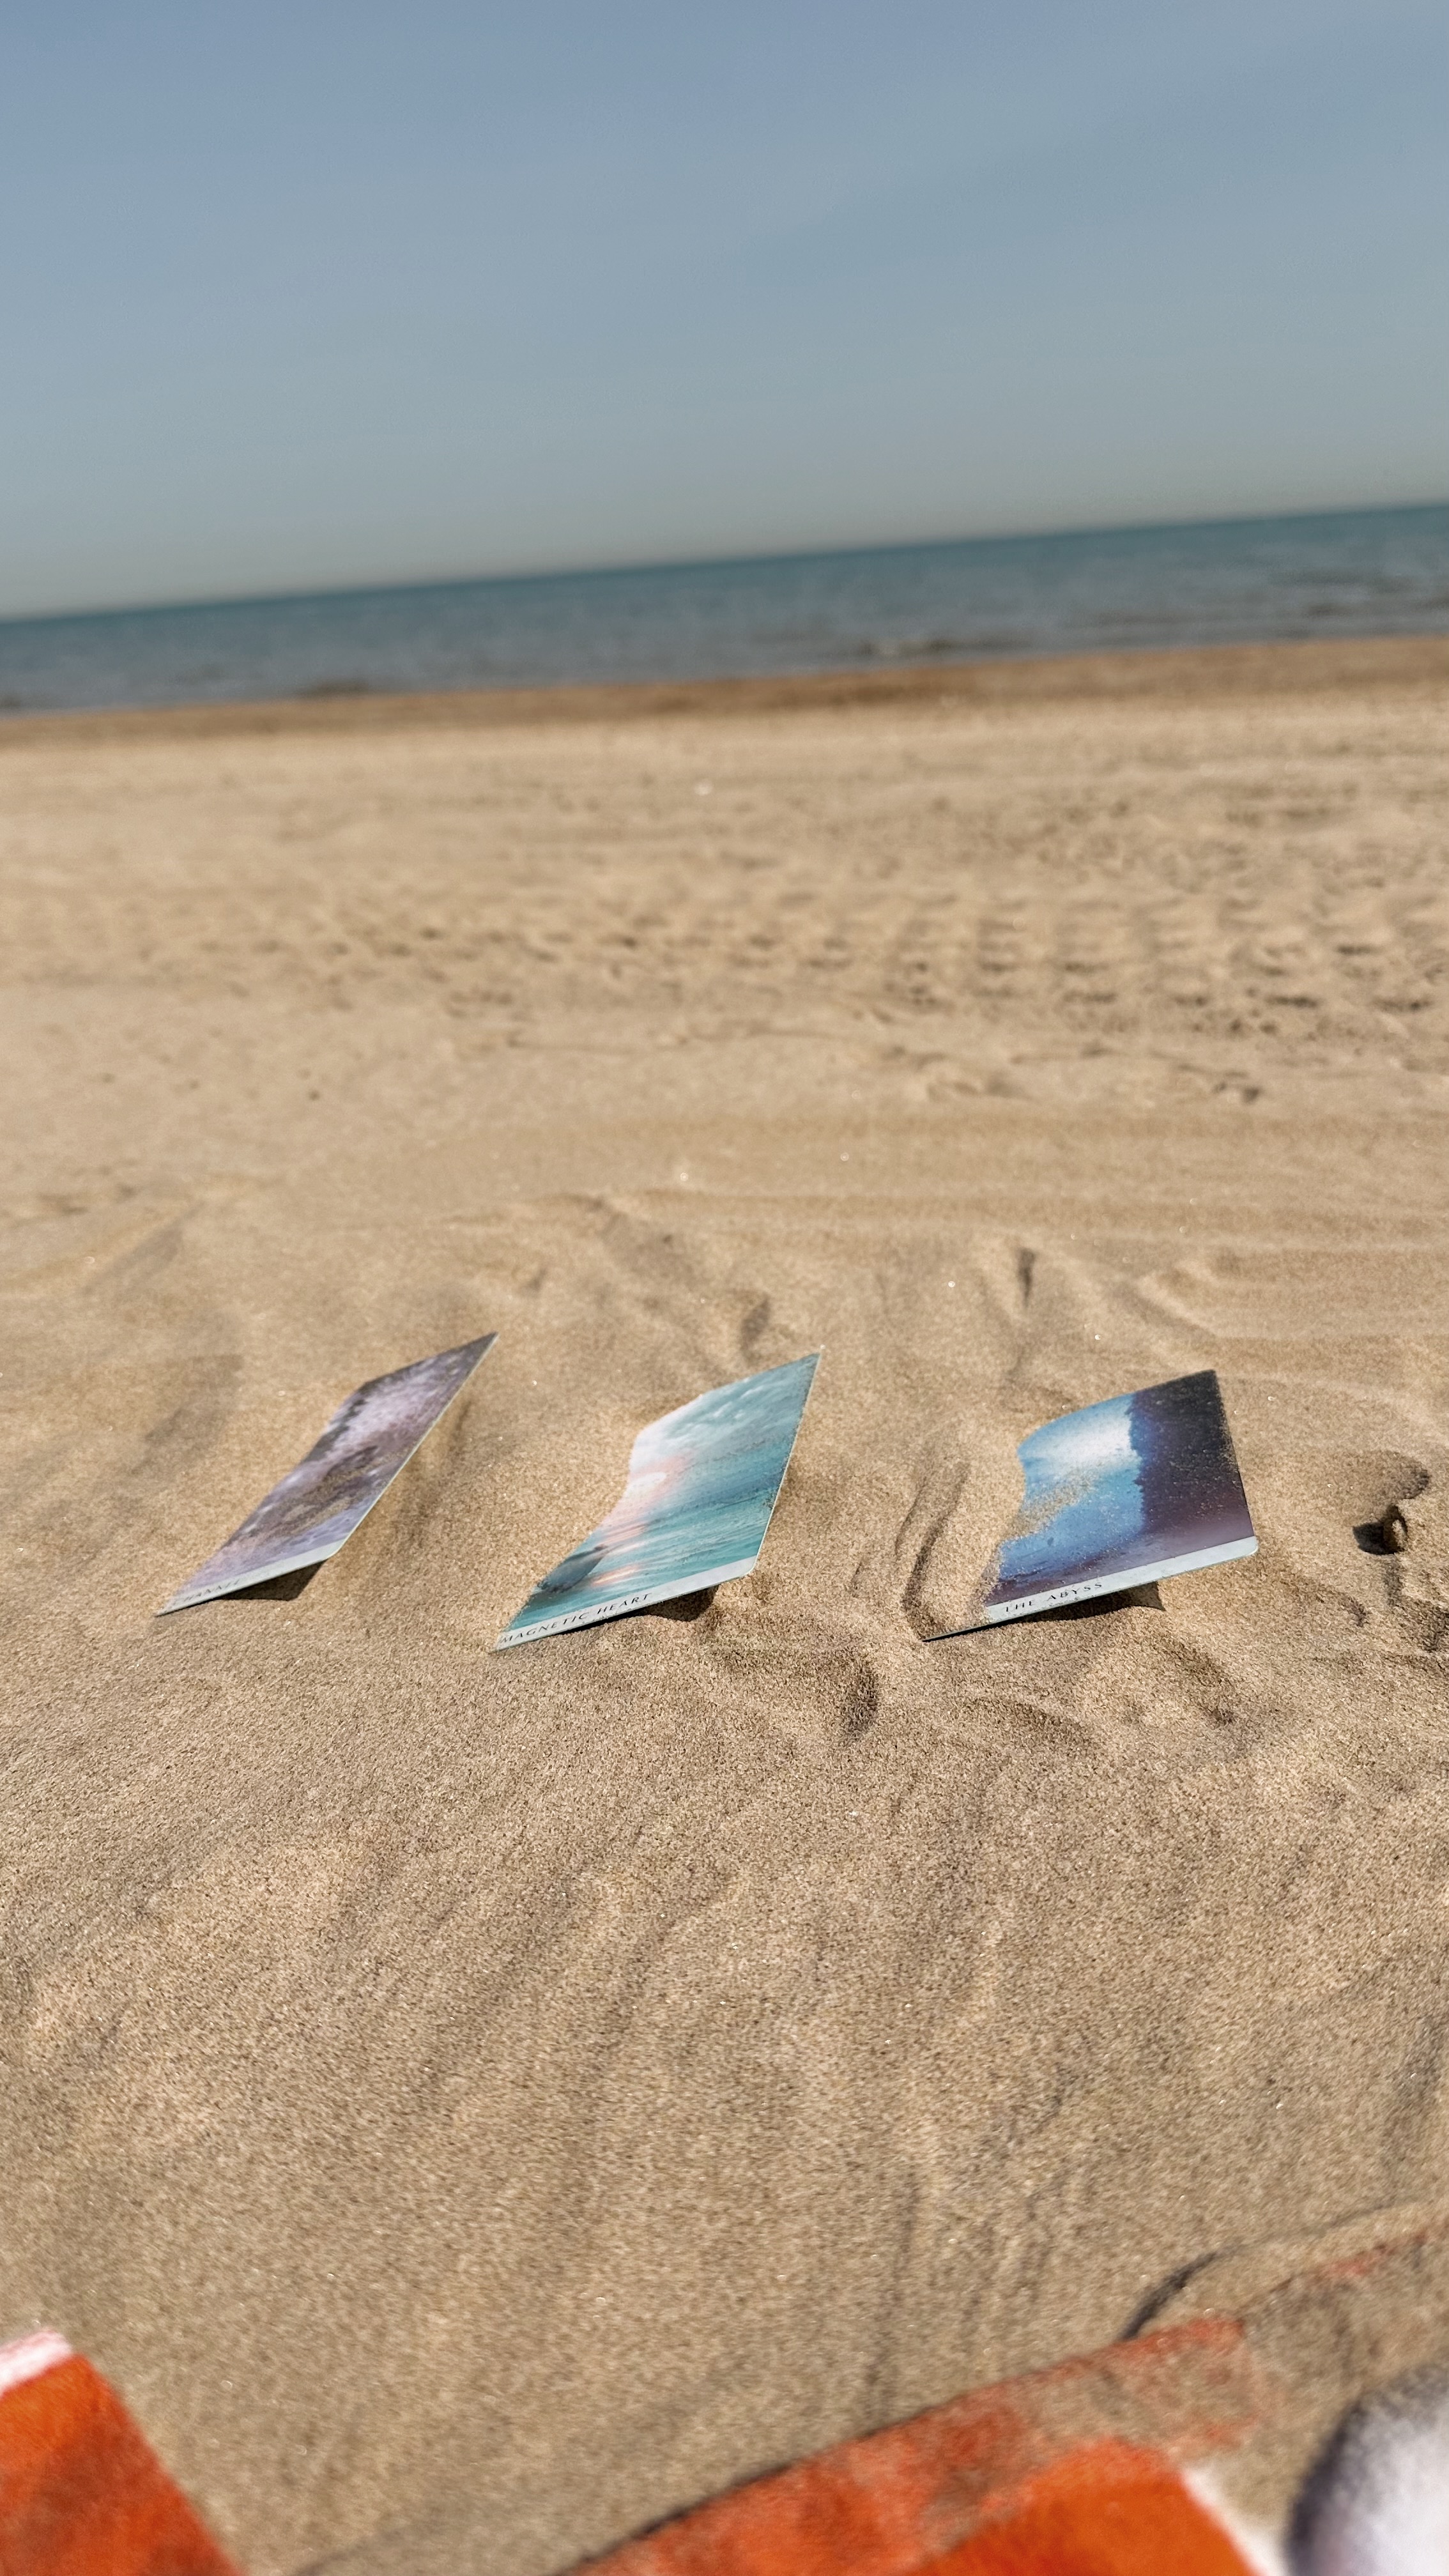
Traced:
<path id="1" fill-rule="evenodd" d="M 1253 1556 L 1258 1540 L 1212 1368 L 1085 1404 L 1016 1450 L 1026 1492 L 944 1636 Z"/>

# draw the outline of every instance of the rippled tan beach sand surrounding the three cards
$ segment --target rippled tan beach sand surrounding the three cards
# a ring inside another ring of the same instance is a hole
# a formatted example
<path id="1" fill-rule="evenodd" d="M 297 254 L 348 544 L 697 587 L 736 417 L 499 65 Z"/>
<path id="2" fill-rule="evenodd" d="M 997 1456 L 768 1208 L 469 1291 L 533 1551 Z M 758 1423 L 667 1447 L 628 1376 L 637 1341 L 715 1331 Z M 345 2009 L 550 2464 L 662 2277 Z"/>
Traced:
<path id="1" fill-rule="evenodd" d="M 549 2576 L 1449 2208 L 1446 701 L 0 732 L 0 2339 L 253 2576 Z M 343 1556 L 152 1618 L 482 1332 Z M 753 1579 L 490 1651 L 642 1422 L 817 1345 Z M 926 1643 L 1016 1440 L 1196 1368 L 1261 1553 Z"/>

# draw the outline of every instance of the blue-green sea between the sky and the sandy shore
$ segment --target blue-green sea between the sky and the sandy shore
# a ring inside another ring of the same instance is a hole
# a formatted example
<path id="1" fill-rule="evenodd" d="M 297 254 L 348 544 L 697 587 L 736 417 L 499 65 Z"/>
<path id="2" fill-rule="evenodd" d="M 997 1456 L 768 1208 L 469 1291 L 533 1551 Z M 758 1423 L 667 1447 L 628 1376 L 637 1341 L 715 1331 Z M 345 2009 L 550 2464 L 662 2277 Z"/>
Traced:
<path id="1" fill-rule="evenodd" d="M 1449 631 L 1449 505 L 0 621 L 0 716 Z"/>

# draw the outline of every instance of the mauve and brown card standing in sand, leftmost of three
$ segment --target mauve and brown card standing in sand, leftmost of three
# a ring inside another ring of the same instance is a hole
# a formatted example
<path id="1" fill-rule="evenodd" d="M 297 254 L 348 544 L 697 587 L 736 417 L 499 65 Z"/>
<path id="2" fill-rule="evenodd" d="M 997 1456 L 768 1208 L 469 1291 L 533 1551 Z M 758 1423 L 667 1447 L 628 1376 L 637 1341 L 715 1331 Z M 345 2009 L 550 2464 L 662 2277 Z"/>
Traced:
<path id="1" fill-rule="evenodd" d="M 157 1618 L 335 1556 L 462 1394 L 495 1340 L 495 1332 L 485 1332 L 477 1342 L 459 1342 L 456 1350 L 438 1350 L 431 1360 L 413 1360 L 387 1378 L 369 1378 L 353 1388 L 317 1445 L 281 1484 L 273 1484 L 180 1592 L 162 1602 Z"/>

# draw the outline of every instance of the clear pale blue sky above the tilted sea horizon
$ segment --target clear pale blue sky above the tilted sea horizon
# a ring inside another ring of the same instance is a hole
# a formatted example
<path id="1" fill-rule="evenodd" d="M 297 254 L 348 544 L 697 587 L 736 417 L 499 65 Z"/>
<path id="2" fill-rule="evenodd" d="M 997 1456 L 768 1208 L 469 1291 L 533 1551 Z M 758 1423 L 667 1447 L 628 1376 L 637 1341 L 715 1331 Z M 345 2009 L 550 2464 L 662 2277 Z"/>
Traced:
<path id="1" fill-rule="evenodd" d="M 1423 0 L 46 0 L 0 613 L 1449 489 Z"/>

